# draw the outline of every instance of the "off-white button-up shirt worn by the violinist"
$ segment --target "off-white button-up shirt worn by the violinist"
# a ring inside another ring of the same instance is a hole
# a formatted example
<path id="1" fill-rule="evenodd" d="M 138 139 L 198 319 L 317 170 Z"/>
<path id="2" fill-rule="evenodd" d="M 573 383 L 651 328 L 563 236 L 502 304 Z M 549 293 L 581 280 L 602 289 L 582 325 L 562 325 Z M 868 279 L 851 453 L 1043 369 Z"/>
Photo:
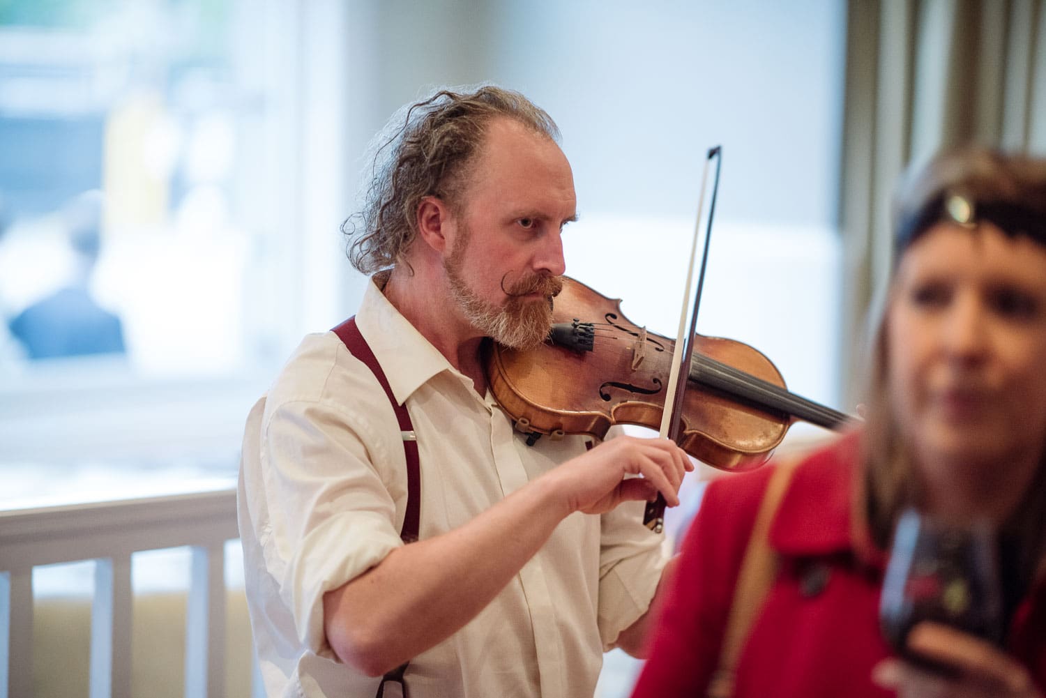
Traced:
<path id="1" fill-rule="evenodd" d="M 373 282 L 356 319 L 413 422 L 422 539 L 584 452 L 581 436 L 526 446 Z M 305 337 L 251 410 L 241 464 L 247 599 L 270 696 L 374 695 L 379 679 L 327 645 L 322 599 L 403 545 L 406 468 L 370 370 L 333 332 Z M 411 659 L 412 698 L 591 696 L 602 652 L 645 612 L 664 564 L 663 537 L 642 525 L 642 511 L 628 502 L 564 519 L 479 615 Z"/>

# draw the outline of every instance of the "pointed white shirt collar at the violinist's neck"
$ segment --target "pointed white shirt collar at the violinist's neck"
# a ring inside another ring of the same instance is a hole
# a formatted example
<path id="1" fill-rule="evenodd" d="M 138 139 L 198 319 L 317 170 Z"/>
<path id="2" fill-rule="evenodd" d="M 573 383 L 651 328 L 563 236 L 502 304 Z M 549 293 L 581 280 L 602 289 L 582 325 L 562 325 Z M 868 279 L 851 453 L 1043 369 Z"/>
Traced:
<path id="1" fill-rule="evenodd" d="M 382 293 L 371 277 L 356 314 L 360 334 L 367 340 L 401 405 L 417 388 L 445 370 L 457 373 L 442 354 L 419 333 Z"/>

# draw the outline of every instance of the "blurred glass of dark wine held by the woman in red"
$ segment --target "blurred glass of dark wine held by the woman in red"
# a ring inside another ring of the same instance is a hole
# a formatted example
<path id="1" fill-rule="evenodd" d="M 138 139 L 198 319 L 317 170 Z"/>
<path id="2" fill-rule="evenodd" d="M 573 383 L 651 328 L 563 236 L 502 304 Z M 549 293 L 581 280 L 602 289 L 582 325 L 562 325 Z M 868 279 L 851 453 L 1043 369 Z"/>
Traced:
<path id="1" fill-rule="evenodd" d="M 947 526 L 905 512 L 893 536 L 880 600 L 883 634 L 902 657 L 926 669 L 954 669 L 908 649 L 911 629 L 933 621 L 1002 641 L 1002 600 L 995 535 L 986 524 Z"/>

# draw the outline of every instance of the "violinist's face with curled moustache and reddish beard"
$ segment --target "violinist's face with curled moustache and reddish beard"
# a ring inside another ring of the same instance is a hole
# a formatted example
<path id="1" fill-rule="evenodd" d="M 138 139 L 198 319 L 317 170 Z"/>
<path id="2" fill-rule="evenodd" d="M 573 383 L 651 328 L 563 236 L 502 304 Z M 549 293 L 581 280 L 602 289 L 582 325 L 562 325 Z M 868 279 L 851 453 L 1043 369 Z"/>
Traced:
<path id="1" fill-rule="evenodd" d="M 515 348 L 544 341 L 566 268 L 563 226 L 575 218 L 573 175 L 560 148 L 514 120 L 492 121 L 444 263 L 462 318 Z"/>

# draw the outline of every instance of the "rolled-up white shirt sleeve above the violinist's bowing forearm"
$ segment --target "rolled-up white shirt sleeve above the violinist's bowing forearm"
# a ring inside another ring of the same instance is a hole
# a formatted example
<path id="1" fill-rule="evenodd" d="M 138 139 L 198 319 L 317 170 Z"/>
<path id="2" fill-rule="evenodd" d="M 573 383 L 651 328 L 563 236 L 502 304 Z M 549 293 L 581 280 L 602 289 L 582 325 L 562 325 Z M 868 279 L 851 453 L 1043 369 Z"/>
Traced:
<path id="1" fill-rule="evenodd" d="M 283 402 L 267 414 L 259 461 L 270 530 L 259 539 L 298 639 L 317 654 L 332 656 L 323 594 L 403 544 L 395 504 L 406 492 L 391 493 L 380 466 L 402 473 L 406 464 L 387 441 L 367 415 L 322 400 Z"/>

